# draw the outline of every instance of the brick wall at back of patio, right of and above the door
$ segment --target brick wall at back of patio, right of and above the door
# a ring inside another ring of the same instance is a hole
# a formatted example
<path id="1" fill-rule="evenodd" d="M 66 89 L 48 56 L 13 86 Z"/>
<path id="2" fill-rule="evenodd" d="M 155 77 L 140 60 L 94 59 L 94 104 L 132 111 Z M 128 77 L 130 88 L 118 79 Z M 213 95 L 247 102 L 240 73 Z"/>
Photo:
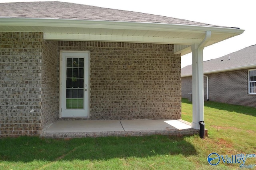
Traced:
<path id="1" fill-rule="evenodd" d="M 180 119 L 180 55 L 173 45 L 58 43 L 90 51 L 90 119 Z"/>

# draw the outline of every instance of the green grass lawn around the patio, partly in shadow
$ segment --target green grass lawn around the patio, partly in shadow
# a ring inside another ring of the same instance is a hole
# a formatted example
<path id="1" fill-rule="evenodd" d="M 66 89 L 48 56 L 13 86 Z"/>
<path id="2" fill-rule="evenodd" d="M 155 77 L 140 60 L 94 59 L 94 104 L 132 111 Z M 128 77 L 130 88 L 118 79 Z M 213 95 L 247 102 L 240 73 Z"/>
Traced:
<path id="1" fill-rule="evenodd" d="M 208 164 L 207 157 L 256 153 L 256 108 L 205 102 L 208 137 L 132 136 L 0 139 L 0 169 L 238 169 L 240 164 Z M 182 99 L 182 119 L 192 121 L 192 103 Z M 256 164 L 247 158 L 246 165 Z M 253 167 L 256 169 L 256 166 Z"/>

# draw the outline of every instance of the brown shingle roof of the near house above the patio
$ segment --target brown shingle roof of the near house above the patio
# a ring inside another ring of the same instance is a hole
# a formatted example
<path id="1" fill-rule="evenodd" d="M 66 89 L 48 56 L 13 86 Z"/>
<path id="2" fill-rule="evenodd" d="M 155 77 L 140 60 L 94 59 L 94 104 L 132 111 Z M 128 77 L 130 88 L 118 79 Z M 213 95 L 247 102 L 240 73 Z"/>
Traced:
<path id="1" fill-rule="evenodd" d="M 166 16 L 58 1 L 1 3 L 0 18 L 56 18 L 223 27 Z"/>

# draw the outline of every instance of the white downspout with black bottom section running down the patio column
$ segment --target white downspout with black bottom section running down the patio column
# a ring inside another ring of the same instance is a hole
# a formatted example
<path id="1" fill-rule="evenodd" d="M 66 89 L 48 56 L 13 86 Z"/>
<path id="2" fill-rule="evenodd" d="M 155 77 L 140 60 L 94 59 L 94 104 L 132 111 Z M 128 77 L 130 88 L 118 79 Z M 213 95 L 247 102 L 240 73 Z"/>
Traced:
<path id="1" fill-rule="evenodd" d="M 201 50 L 204 49 L 204 45 L 210 40 L 211 35 L 212 35 L 211 31 L 206 31 L 204 40 L 202 40 L 202 42 L 196 48 L 196 53 L 197 54 L 202 52 Z M 202 68 L 202 71 L 203 71 L 203 68 Z M 204 88 L 204 87 L 202 87 L 202 88 Z M 202 97 L 204 97 L 204 96 L 202 96 Z M 199 99 L 199 101 L 202 101 L 202 103 L 200 103 L 200 105 L 202 107 L 202 113 L 199 113 L 199 122 L 198 122 L 199 125 L 200 125 L 199 134 L 200 134 L 200 138 L 204 138 L 204 136 L 205 136 L 205 128 L 204 128 L 204 99 L 201 99 L 201 100 Z"/>

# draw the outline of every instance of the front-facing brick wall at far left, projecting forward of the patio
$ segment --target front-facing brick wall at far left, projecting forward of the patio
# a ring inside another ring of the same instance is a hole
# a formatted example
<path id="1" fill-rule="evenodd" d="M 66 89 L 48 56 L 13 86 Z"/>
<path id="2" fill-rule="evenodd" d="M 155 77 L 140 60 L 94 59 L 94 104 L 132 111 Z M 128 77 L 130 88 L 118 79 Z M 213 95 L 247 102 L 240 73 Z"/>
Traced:
<path id="1" fill-rule="evenodd" d="M 0 32 L 0 136 L 41 132 L 42 33 Z"/>

